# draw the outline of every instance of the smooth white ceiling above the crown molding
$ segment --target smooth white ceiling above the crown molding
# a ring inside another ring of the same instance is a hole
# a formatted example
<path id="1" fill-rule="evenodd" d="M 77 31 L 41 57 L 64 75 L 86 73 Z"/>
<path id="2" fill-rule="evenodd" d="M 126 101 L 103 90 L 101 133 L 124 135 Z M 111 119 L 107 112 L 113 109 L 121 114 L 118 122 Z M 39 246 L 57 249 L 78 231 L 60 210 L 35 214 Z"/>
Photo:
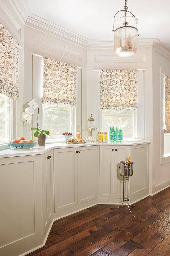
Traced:
<path id="1" fill-rule="evenodd" d="M 124 7 L 124 0 L 24 1 L 33 15 L 88 39 L 113 38 L 113 16 Z M 139 20 L 140 38 L 158 38 L 170 47 L 169 3 L 170 0 L 127 0 L 128 10 Z"/>

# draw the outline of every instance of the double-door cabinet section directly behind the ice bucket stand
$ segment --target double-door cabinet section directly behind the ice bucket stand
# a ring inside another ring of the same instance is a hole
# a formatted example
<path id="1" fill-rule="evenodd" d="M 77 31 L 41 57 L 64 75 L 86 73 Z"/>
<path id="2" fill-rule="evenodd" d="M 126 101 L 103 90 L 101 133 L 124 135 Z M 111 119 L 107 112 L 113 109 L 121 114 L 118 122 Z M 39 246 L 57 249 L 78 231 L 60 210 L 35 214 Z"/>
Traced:
<path id="1" fill-rule="evenodd" d="M 129 156 L 129 146 L 100 146 L 99 198 L 122 198 L 123 177 L 119 162 Z"/>

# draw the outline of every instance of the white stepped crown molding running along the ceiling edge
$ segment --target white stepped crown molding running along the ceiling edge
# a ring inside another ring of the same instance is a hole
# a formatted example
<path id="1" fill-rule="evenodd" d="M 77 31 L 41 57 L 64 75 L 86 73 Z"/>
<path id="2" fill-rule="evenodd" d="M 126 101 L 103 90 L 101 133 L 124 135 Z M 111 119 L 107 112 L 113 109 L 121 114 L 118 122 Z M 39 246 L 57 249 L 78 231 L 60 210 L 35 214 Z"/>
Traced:
<path id="1" fill-rule="evenodd" d="M 67 42 L 71 44 L 76 44 L 80 47 L 86 48 L 86 49 L 99 49 L 99 47 L 111 47 L 113 48 L 113 39 L 88 39 L 86 37 L 83 37 L 79 34 L 74 33 L 71 30 L 68 30 L 66 28 L 63 28 L 61 26 L 58 26 L 57 24 L 48 21 L 46 19 L 43 19 L 37 15 L 34 15 L 31 13 L 31 10 L 26 2 L 26 0 L 9 0 L 10 3 L 13 6 L 16 6 L 16 11 L 18 12 L 18 15 L 24 22 L 24 24 L 28 27 L 37 29 L 39 31 L 42 31 L 43 33 L 49 34 L 51 36 L 56 36 L 62 40 L 66 40 Z M 2 0 L 0 0 L 0 3 Z M 1 5 L 2 6 L 2 5 Z M 2 6 L 4 8 L 4 4 Z M 9 10 L 7 10 L 7 7 L 5 8 L 7 15 L 9 18 L 11 18 L 11 14 Z M 15 24 L 17 26 L 17 23 L 15 21 Z M 157 38 L 140 38 L 138 39 L 138 48 L 157 48 L 160 51 L 164 52 L 165 54 L 170 55 L 170 48 L 163 44 L 160 40 Z"/>

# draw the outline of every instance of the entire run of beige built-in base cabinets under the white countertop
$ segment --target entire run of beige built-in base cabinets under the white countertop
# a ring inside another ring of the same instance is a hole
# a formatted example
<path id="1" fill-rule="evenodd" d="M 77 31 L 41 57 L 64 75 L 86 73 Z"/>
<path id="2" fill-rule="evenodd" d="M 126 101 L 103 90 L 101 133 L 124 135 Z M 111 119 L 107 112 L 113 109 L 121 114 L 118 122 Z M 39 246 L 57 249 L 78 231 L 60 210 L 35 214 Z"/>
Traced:
<path id="1" fill-rule="evenodd" d="M 42 247 L 54 219 L 97 203 L 120 203 L 119 162 L 128 156 L 134 162 L 133 202 L 149 193 L 149 144 L 51 148 L 0 158 L 0 255 Z"/>

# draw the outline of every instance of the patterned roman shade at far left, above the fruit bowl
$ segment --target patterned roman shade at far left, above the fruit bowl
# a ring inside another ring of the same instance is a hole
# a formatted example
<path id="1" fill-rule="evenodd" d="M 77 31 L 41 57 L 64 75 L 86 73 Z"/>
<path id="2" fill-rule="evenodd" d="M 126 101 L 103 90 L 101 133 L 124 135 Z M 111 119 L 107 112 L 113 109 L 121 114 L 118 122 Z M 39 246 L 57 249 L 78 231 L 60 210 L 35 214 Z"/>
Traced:
<path id="1" fill-rule="evenodd" d="M 16 100 L 18 92 L 19 44 L 0 23 L 0 93 Z"/>

